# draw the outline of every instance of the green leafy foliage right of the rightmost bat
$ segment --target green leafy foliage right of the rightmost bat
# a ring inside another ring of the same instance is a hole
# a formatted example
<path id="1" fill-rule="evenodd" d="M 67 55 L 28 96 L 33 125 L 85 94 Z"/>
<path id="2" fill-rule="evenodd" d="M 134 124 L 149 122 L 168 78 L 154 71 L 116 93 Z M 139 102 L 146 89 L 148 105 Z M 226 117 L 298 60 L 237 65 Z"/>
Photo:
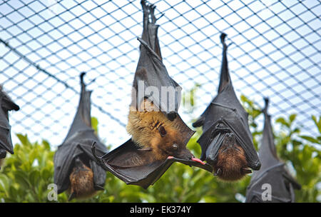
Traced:
<path id="1" fill-rule="evenodd" d="M 320 133 L 315 137 L 302 136 L 300 128 L 293 128 L 295 117 L 293 114 L 288 119 L 277 118 L 276 122 L 281 125 L 280 133 L 277 135 L 277 153 L 289 166 L 294 168 L 297 181 L 302 185 L 302 189 L 295 192 L 296 201 L 317 202 L 317 198 L 321 196 L 317 188 L 318 185 L 320 188 L 321 184 L 321 116 L 319 121 L 312 116 Z M 313 143 L 319 147 L 316 148 Z"/>

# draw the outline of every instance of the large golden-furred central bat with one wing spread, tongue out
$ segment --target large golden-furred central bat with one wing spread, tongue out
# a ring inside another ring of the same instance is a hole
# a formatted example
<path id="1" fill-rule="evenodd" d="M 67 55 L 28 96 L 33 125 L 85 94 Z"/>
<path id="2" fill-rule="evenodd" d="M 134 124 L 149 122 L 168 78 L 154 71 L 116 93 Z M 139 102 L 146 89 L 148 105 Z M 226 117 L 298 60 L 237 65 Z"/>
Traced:
<path id="1" fill-rule="evenodd" d="M 97 162 L 127 184 L 148 188 L 175 161 L 209 171 L 211 167 L 194 158 L 186 148 L 194 131 L 178 115 L 180 92 L 165 94 L 163 98 L 155 94 L 164 88 L 173 91 L 180 86 L 170 78 L 162 62 L 155 6 L 146 1 L 141 1 L 141 5 L 143 35 L 138 39 L 141 56 L 134 76 L 126 126 L 132 137 L 113 151 L 97 156 Z M 148 89 L 153 89 L 153 94 Z M 95 150 L 93 146 L 94 156 Z"/>

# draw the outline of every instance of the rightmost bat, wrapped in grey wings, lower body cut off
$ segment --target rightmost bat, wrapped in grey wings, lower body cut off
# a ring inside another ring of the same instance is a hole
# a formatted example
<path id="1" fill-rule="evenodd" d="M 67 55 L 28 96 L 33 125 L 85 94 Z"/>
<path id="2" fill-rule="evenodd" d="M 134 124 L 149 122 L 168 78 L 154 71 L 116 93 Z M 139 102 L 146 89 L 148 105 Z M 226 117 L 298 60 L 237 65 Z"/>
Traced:
<path id="1" fill-rule="evenodd" d="M 259 171 L 253 172 L 250 185 L 246 191 L 245 202 L 295 202 L 294 189 L 300 189 L 301 186 L 287 171 L 285 163 L 277 157 L 270 115 L 267 114 L 267 106 L 268 99 L 265 99 L 265 109 L 263 109 L 265 123 L 259 151 L 262 166 Z M 267 190 L 267 187 L 264 186 L 265 184 L 270 184 L 270 199 L 264 193 Z"/>

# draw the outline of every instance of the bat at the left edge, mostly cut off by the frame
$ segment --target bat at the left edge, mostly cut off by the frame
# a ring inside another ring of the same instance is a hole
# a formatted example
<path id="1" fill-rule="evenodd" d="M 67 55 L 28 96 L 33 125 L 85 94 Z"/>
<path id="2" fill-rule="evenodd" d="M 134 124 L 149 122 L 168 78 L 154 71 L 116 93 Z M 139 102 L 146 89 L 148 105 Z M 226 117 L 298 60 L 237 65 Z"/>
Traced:
<path id="1" fill-rule="evenodd" d="M 0 86 L 0 168 L 3 159 L 6 158 L 6 152 L 14 153 L 8 111 L 18 111 L 19 109 L 19 106 L 10 99 L 2 89 L 2 86 Z"/>

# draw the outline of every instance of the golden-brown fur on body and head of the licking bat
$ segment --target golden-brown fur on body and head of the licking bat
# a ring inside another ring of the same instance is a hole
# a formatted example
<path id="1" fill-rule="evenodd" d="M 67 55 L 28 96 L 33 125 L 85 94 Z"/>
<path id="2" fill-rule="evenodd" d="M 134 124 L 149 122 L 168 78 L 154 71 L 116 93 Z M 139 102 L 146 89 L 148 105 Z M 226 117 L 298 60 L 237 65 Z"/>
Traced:
<path id="1" fill-rule="evenodd" d="M 192 153 L 185 147 L 193 131 L 185 125 L 182 119 L 177 116 L 174 121 L 168 118 L 161 111 L 157 111 L 148 100 L 143 102 L 142 111 L 131 107 L 128 115 L 126 130 L 132 136 L 132 140 L 140 148 L 151 148 L 155 160 L 163 160 L 168 156 L 180 158 L 192 157 Z M 165 136 L 161 136 L 158 128 L 163 126 Z M 172 149 L 173 144 L 178 145 L 178 150 Z"/>

